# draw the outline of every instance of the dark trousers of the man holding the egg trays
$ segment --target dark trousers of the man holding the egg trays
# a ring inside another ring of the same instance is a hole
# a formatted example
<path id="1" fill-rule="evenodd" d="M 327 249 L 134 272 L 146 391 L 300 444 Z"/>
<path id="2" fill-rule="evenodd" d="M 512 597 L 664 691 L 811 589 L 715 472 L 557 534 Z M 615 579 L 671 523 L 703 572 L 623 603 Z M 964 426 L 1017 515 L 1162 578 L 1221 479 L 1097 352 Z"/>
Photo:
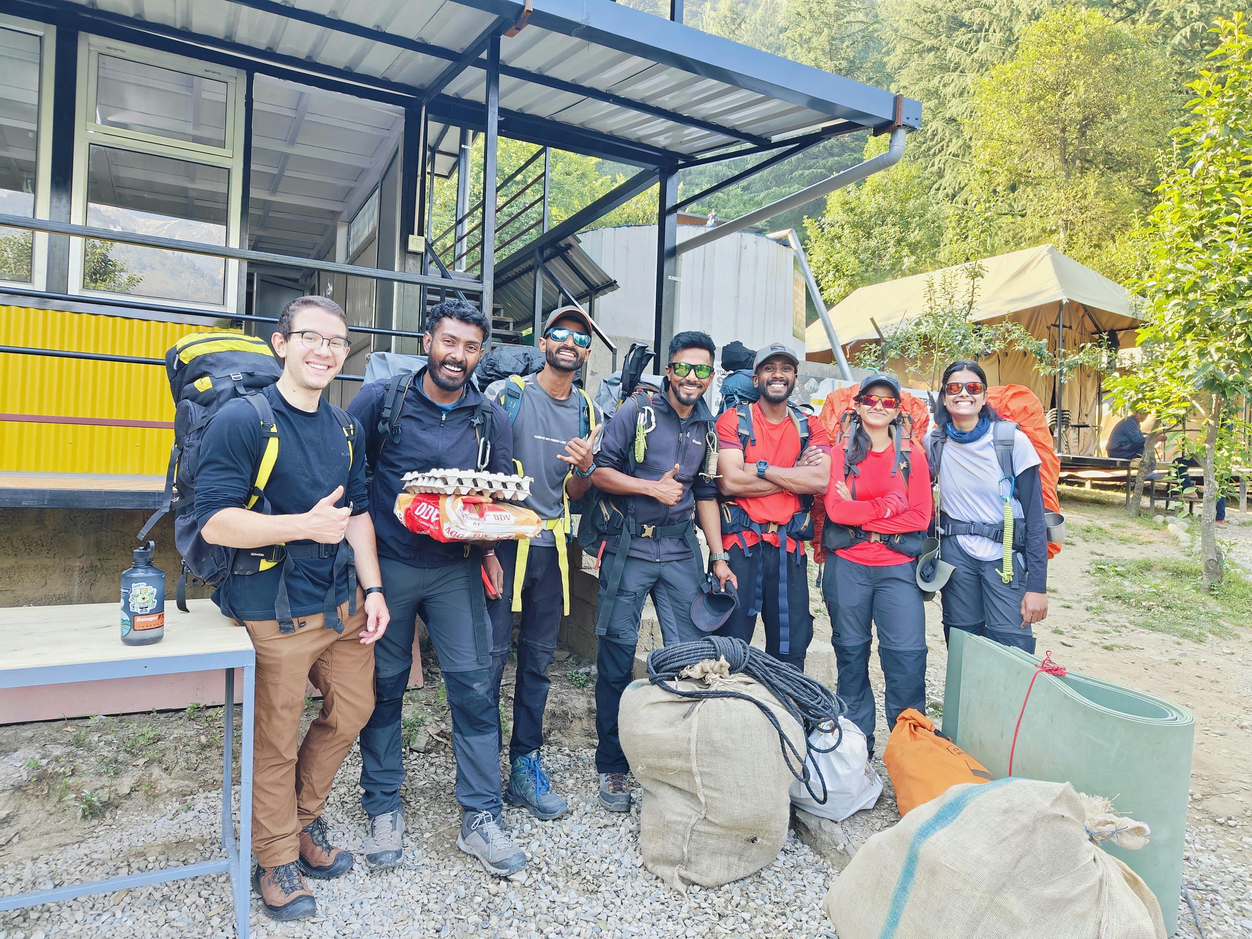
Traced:
<path id="1" fill-rule="evenodd" d="M 377 701 L 361 731 L 362 808 L 368 815 L 401 808 L 401 712 L 413 666 L 416 618 L 421 616 L 439 659 L 452 711 L 457 801 L 466 810 L 498 815 L 500 712 L 492 685 L 491 621 L 477 552 L 466 563 L 442 567 L 412 567 L 387 557 L 381 557 L 378 565 L 392 618 L 374 644 Z"/>

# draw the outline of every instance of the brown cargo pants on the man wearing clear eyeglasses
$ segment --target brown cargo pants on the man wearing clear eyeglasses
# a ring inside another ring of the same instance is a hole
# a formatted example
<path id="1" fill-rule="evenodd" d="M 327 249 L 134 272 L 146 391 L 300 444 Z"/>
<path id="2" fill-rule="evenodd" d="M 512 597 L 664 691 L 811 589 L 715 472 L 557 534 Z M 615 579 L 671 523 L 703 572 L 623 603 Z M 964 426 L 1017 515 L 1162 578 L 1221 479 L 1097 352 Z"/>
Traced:
<path id="1" fill-rule="evenodd" d="M 252 850 L 269 869 L 299 856 L 299 833 L 322 814 L 331 784 L 374 710 L 374 647 L 361 644 L 364 596 L 357 612 L 339 607 L 343 632 L 323 613 L 298 617 L 283 635 L 277 620 L 245 621 L 257 650 L 255 751 L 252 775 Z M 323 695 L 304 742 L 304 682 Z"/>

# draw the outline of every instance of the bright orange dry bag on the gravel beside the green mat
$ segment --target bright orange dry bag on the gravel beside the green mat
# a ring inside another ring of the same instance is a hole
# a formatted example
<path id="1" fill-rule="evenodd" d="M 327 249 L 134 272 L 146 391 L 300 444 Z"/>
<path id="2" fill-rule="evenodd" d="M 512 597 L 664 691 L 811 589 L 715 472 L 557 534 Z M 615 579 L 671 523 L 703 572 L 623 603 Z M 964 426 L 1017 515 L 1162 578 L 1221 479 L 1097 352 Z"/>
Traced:
<path id="1" fill-rule="evenodd" d="M 960 782 L 987 782 L 992 774 L 913 707 L 900 712 L 883 754 L 895 788 L 895 805 L 908 815 Z"/>

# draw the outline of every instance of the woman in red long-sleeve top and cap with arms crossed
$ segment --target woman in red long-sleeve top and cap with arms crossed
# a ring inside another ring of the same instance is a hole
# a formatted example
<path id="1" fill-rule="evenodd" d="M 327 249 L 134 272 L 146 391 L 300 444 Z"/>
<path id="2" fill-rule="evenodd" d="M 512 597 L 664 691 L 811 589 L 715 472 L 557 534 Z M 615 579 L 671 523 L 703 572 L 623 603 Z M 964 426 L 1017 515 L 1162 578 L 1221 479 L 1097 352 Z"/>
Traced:
<path id="1" fill-rule="evenodd" d="M 826 570 L 839 696 L 874 752 L 869 685 L 870 626 L 886 679 L 888 732 L 900 711 L 926 705 L 926 620 L 916 555 L 930 526 L 930 471 L 921 447 L 904 452 L 900 384 L 893 376 L 861 383 L 846 447 L 834 447 L 826 490 Z"/>

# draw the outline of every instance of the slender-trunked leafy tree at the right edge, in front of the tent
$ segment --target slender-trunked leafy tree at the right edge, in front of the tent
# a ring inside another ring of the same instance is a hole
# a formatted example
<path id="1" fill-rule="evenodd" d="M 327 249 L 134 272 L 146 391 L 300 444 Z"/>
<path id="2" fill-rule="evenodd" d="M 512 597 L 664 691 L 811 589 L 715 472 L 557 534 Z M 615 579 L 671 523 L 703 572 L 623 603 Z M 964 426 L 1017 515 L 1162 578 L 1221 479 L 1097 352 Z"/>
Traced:
<path id="1" fill-rule="evenodd" d="M 1191 123 L 1174 131 L 1161 202 L 1148 215 L 1142 362 L 1112 379 L 1122 406 L 1203 426 L 1204 585 L 1222 576 L 1216 502 L 1222 453 L 1239 432 L 1232 403 L 1252 393 L 1252 38 L 1242 15 L 1219 20 L 1212 65 L 1188 88 Z"/>

